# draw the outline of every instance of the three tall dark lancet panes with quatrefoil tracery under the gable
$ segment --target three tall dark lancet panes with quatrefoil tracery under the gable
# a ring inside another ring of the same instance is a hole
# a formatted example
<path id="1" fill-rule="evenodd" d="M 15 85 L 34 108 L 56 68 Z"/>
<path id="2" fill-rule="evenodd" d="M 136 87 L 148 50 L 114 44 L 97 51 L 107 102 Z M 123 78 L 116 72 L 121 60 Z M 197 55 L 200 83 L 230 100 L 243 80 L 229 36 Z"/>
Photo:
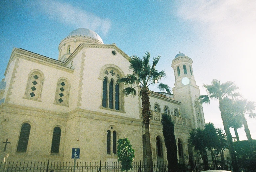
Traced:
<path id="1" fill-rule="evenodd" d="M 115 68 L 108 67 L 104 70 L 103 91 L 102 91 L 102 107 L 109 109 L 122 110 L 121 84 L 117 84 L 120 78 L 120 72 Z"/>

